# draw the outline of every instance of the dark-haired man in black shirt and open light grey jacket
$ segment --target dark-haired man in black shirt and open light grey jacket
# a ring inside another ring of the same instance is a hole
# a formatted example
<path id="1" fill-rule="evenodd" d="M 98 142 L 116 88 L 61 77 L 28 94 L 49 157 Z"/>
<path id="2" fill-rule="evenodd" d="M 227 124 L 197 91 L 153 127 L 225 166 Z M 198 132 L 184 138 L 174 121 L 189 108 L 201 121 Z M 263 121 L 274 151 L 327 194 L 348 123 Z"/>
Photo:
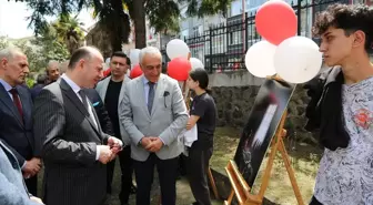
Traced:
<path id="1" fill-rule="evenodd" d="M 111 75 L 99 82 L 95 88 L 109 113 L 115 137 L 122 139 L 124 143 L 123 150 L 118 153 L 120 167 L 122 171 L 121 192 L 119 194 L 121 205 L 125 205 L 129 202 L 133 173 L 130 146 L 131 141 L 123 124 L 119 123 L 118 115 L 118 109 L 124 95 L 124 85 L 131 81 L 131 79 L 125 75 L 130 66 L 131 62 L 129 61 L 129 58 L 122 51 L 115 51 L 110 58 Z M 115 161 L 112 161 L 108 164 L 107 191 L 109 194 L 111 193 L 111 182 L 113 177 L 114 165 Z"/>

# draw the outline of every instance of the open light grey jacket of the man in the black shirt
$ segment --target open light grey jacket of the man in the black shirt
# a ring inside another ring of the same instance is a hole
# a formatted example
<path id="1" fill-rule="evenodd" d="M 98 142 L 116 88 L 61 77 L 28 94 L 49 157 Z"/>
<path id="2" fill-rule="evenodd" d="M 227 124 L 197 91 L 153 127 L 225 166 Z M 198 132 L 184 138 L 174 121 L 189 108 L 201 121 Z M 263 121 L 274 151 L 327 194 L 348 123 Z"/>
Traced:
<path id="1" fill-rule="evenodd" d="M 104 102 L 104 99 L 107 96 L 107 91 L 108 91 L 108 86 L 109 86 L 109 82 L 111 81 L 111 76 L 105 78 L 104 80 L 100 81 L 95 88 L 95 90 L 98 91 L 98 93 L 100 94 L 100 98 L 102 100 L 102 102 Z M 118 115 L 119 115 L 119 107 L 120 107 L 120 103 L 124 98 L 124 85 L 131 81 L 131 79 L 127 75 L 124 75 L 124 81 L 122 83 L 122 88 L 121 88 L 121 92 L 119 94 L 119 100 L 118 100 Z M 121 139 L 124 143 L 124 145 L 130 145 L 131 144 L 131 140 L 129 134 L 127 133 L 124 126 L 122 123 L 119 123 L 119 129 L 121 132 Z"/>

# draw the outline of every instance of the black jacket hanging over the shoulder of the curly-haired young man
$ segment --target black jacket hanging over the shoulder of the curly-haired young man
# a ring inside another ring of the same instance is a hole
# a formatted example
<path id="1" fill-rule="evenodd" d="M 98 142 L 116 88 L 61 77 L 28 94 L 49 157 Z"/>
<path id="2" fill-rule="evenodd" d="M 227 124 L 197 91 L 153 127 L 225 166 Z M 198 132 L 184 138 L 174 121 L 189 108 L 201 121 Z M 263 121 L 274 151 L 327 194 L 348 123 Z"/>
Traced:
<path id="1" fill-rule="evenodd" d="M 305 130 L 320 129 L 320 144 L 335 151 L 345 148 L 350 143 L 350 135 L 345 131 L 342 109 L 342 84 L 344 83 L 341 68 L 332 68 L 314 80 L 310 81 L 304 89 L 311 101 L 306 107 L 309 119 Z"/>

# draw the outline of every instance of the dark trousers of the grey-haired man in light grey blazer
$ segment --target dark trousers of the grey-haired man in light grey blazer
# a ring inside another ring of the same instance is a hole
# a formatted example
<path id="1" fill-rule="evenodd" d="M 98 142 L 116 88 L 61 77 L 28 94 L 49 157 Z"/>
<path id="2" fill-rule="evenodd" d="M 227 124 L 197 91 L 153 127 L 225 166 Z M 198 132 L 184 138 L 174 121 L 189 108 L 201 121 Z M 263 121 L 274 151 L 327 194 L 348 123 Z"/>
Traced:
<path id="1" fill-rule="evenodd" d="M 150 205 L 150 191 L 155 165 L 161 185 L 162 205 L 175 205 L 178 160 L 179 157 L 160 160 L 152 153 L 144 162 L 134 161 L 134 175 L 138 185 L 137 205 Z"/>

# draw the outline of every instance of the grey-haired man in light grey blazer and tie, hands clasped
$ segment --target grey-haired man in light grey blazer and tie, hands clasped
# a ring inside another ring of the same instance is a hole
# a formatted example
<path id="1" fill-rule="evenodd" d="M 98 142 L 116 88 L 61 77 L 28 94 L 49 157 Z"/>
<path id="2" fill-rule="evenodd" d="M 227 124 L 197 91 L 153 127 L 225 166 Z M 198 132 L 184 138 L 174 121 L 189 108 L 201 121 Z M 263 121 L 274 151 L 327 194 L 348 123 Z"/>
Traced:
<path id="1" fill-rule="evenodd" d="M 150 204 L 157 165 L 162 205 L 175 205 L 178 156 L 183 151 L 178 135 L 186 126 L 186 107 L 178 81 L 161 74 L 160 51 L 148 47 L 139 58 L 143 75 L 127 83 L 119 110 L 131 139 L 137 204 Z"/>

